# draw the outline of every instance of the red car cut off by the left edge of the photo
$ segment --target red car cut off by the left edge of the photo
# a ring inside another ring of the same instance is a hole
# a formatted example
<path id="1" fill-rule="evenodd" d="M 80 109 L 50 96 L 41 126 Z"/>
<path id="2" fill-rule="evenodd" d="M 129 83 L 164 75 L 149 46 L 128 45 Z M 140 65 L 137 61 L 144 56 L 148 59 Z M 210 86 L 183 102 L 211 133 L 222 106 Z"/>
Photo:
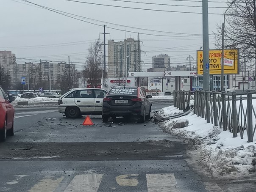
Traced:
<path id="1" fill-rule="evenodd" d="M 14 135 L 14 107 L 11 101 L 15 97 L 7 96 L 0 86 L 0 142 L 6 140 L 6 136 Z"/>

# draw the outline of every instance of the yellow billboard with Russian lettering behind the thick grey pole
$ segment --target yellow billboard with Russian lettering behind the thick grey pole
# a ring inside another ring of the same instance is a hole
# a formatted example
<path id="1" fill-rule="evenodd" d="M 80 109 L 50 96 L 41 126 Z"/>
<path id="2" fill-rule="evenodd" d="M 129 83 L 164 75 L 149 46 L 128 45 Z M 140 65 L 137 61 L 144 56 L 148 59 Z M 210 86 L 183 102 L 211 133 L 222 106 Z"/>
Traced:
<path id="1" fill-rule="evenodd" d="M 206 67 L 212 75 L 221 74 L 221 52 L 221 49 L 209 50 Z M 203 50 L 197 51 L 197 74 L 203 74 Z M 239 49 L 224 49 L 224 74 L 239 74 Z"/>

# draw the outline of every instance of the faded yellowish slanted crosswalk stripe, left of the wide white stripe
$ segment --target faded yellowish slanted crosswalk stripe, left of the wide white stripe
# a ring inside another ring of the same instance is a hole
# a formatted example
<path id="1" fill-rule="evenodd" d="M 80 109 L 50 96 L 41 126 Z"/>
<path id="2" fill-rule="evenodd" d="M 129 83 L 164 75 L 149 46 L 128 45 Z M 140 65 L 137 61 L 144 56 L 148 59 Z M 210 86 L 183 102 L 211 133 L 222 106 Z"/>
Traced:
<path id="1" fill-rule="evenodd" d="M 28 192 L 54 192 L 63 179 L 64 177 L 54 179 L 53 176 L 46 176 Z"/>

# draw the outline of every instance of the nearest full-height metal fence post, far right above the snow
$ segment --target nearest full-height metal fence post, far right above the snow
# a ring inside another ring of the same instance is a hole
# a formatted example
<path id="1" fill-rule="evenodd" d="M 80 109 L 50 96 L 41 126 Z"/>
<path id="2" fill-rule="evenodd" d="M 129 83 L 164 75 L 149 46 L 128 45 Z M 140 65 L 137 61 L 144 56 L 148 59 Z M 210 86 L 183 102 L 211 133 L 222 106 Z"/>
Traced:
<path id="1" fill-rule="evenodd" d="M 248 142 L 253 142 L 253 109 L 252 94 L 247 92 L 247 136 Z"/>

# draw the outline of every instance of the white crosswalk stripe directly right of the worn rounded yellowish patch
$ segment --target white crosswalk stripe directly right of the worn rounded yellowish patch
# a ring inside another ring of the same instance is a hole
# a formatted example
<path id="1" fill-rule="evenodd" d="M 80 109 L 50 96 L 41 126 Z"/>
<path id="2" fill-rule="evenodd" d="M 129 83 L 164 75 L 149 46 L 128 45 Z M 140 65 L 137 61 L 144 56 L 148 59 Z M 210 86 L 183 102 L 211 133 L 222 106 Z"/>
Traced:
<path id="1" fill-rule="evenodd" d="M 147 192 L 179 192 L 173 173 L 146 174 Z"/>

